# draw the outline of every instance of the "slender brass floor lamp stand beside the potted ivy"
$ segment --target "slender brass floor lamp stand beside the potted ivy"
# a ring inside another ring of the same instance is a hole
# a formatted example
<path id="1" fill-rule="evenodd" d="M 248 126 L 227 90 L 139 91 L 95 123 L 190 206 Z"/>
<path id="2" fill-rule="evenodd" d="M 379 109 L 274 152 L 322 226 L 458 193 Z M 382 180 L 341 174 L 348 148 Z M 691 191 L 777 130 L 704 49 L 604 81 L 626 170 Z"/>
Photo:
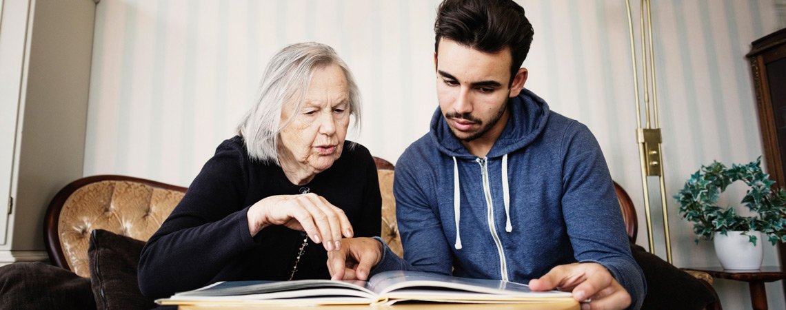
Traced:
<path id="1" fill-rule="evenodd" d="M 634 95 L 636 97 L 636 142 L 639 144 L 639 160 L 641 162 L 641 185 L 644 189 L 645 216 L 647 218 L 647 239 L 649 252 L 655 253 L 655 242 L 652 236 L 652 215 L 649 203 L 648 177 L 658 177 L 660 186 L 660 203 L 663 206 L 663 234 L 666 239 L 666 257 L 671 263 L 671 242 L 669 237 L 668 210 L 666 205 L 666 181 L 663 177 L 663 155 L 661 152 L 661 134 L 658 122 L 658 88 L 655 78 L 655 57 L 652 53 L 652 14 L 649 0 L 641 0 L 641 68 L 643 83 L 644 121 L 641 126 L 641 98 L 639 97 L 639 80 L 634 41 L 634 23 L 630 13 L 630 0 L 625 1 L 628 13 L 628 31 L 630 32 L 630 60 L 633 65 Z M 650 104 L 652 97 L 652 105 Z M 650 120 L 652 119 L 652 122 Z"/>

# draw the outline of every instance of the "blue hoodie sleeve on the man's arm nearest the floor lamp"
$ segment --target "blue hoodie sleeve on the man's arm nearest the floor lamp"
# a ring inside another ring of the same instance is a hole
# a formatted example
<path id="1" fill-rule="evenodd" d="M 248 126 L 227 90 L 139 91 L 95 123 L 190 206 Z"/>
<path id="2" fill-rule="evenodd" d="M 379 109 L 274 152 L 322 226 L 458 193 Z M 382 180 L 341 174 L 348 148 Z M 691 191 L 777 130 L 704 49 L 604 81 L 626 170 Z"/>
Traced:
<path id="1" fill-rule="evenodd" d="M 644 275 L 630 253 L 600 145 L 586 126 L 573 122 L 565 132 L 561 154 L 562 208 L 576 260 L 604 265 L 630 294 L 630 308 L 641 308 L 646 293 Z"/>

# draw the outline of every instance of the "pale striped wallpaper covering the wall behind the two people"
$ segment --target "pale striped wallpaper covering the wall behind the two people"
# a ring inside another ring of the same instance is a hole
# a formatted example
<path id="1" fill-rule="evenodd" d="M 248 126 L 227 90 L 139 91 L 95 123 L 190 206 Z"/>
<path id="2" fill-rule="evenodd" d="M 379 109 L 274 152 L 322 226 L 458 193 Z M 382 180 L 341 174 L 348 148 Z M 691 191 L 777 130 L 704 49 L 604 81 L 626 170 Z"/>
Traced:
<path id="1" fill-rule="evenodd" d="M 674 195 L 701 164 L 749 162 L 762 154 L 744 55 L 750 42 L 786 26 L 784 1 L 652 2 L 664 168 L 667 193 Z M 437 3 L 102 0 L 84 173 L 187 186 L 215 147 L 233 136 L 269 57 L 303 41 L 329 44 L 347 61 L 364 98 L 362 129 L 349 138 L 395 162 L 427 132 L 437 107 Z M 535 30 L 524 62 L 526 87 L 593 130 L 612 177 L 639 207 L 638 243 L 645 245 L 625 2 L 520 3 Z M 733 188 L 726 200 L 733 203 L 740 193 L 744 188 Z M 668 202 L 674 263 L 718 265 L 711 243 L 693 243 L 691 225 L 673 199 Z M 660 206 L 653 203 L 655 235 L 662 240 Z M 769 244 L 764 263 L 777 264 Z M 744 283 L 716 280 L 716 288 L 725 308 L 749 307 Z M 768 289 L 769 305 L 784 308 L 781 284 Z"/>

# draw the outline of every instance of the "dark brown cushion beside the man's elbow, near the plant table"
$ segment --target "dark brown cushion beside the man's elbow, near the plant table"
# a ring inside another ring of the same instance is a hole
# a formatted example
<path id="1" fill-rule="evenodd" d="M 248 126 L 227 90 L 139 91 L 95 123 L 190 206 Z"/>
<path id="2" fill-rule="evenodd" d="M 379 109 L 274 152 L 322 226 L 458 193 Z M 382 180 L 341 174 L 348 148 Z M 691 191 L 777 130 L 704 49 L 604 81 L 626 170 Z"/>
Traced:
<path id="1" fill-rule="evenodd" d="M 701 280 L 634 243 L 630 243 L 630 251 L 647 279 L 642 309 L 703 309 L 715 301 Z"/>

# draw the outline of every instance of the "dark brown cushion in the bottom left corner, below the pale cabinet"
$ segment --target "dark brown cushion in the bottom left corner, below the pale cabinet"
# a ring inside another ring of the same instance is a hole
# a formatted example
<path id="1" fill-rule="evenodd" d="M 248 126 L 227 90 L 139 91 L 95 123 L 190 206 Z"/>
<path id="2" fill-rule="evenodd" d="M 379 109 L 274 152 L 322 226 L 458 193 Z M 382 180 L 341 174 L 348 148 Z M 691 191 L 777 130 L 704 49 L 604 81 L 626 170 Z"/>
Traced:
<path id="1" fill-rule="evenodd" d="M 0 310 L 94 309 L 90 279 L 41 262 L 0 267 Z"/>

